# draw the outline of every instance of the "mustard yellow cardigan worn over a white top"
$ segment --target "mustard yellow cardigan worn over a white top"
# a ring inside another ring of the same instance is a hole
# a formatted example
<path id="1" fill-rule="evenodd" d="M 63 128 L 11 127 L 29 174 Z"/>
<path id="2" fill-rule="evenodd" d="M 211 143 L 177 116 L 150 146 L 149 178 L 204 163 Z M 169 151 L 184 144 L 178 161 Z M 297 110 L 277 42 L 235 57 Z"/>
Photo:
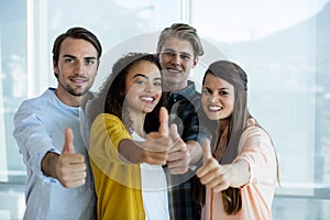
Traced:
<path id="1" fill-rule="evenodd" d="M 145 219 L 139 165 L 119 157 L 123 139 L 132 139 L 122 121 L 103 113 L 92 123 L 89 158 L 95 178 L 98 219 Z"/>

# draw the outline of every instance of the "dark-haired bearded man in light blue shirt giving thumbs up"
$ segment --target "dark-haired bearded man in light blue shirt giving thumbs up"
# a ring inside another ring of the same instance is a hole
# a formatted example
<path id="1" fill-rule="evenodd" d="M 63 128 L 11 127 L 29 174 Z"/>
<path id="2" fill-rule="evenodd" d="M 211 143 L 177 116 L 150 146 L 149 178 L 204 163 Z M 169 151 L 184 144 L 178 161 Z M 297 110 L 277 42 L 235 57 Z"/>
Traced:
<path id="1" fill-rule="evenodd" d="M 80 131 L 101 45 L 84 28 L 61 34 L 53 47 L 57 88 L 23 101 L 14 138 L 28 172 L 24 219 L 92 219 L 95 191 Z M 70 129 L 68 129 L 70 128 Z"/>

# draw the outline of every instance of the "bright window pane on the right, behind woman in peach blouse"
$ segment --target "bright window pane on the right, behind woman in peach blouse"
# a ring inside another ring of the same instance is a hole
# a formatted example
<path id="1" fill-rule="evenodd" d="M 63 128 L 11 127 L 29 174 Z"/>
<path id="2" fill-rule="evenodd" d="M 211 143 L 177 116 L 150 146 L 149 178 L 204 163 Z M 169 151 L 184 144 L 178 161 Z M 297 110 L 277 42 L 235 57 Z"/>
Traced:
<path id="1" fill-rule="evenodd" d="M 191 23 L 246 70 L 250 110 L 275 142 L 275 219 L 330 218 L 329 15 L 328 0 L 191 1 Z"/>

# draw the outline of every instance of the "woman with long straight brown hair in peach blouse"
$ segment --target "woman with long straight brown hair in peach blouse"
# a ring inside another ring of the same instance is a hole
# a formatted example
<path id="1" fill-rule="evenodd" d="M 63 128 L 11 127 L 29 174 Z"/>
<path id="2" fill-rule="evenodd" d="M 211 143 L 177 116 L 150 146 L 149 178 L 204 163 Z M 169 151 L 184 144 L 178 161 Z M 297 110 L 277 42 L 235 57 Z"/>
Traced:
<path id="1" fill-rule="evenodd" d="M 202 218 L 272 219 L 277 158 L 267 132 L 248 110 L 248 77 L 237 64 L 219 61 L 202 80 L 201 105 L 211 131 L 204 142 L 204 166 L 197 170 L 206 186 Z"/>

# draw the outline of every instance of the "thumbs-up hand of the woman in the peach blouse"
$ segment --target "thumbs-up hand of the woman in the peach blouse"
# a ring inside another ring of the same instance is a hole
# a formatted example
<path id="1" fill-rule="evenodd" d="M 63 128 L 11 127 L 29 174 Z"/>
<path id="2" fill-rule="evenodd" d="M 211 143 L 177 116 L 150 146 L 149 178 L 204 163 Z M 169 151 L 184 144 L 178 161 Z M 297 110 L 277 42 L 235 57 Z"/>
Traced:
<path id="1" fill-rule="evenodd" d="M 231 176 L 228 170 L 231 165 L 220 165 L 219 162 L 212 157 L 210 141 L 206 139 L 202 143 L 202 167 L 200 167 L 196 175 L 200 183 L 215 193 L 220 193 L 230 186 Z"/>

